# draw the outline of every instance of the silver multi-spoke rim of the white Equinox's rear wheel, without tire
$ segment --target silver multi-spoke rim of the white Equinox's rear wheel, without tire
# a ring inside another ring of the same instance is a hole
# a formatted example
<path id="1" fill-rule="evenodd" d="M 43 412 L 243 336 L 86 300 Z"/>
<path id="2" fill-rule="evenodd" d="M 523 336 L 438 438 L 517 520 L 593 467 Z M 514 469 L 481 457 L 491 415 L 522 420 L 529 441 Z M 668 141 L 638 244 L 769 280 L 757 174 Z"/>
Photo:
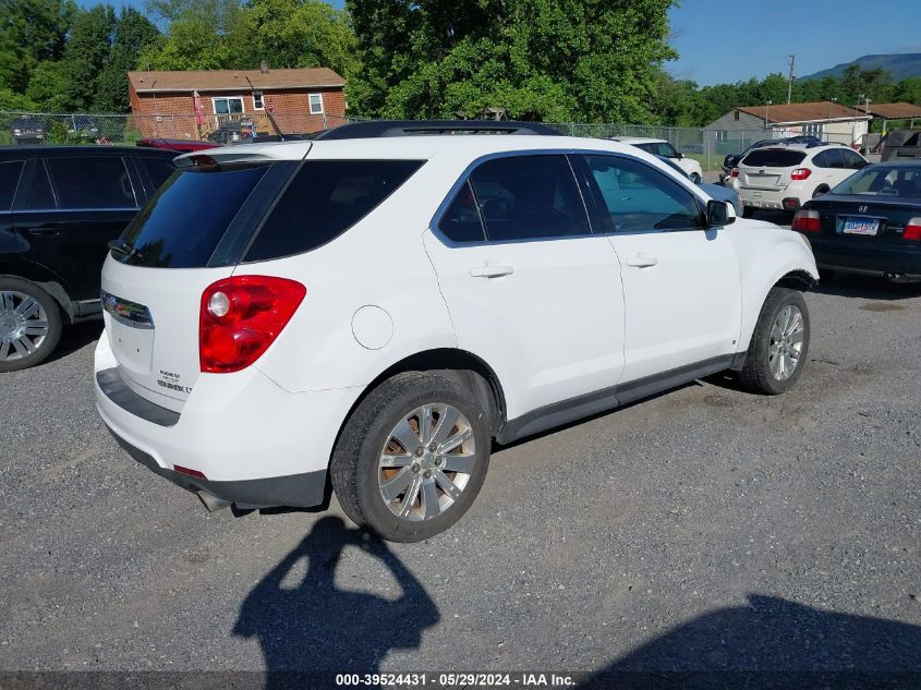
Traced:
<path id="1" fill-rule="evenodd" d="M 380 451 L 377 485 L 395 516 L 432 520 L 458 501 L 476 462 L 470 421 L 453 405 L 435 402 L 407 414 Z"/>

